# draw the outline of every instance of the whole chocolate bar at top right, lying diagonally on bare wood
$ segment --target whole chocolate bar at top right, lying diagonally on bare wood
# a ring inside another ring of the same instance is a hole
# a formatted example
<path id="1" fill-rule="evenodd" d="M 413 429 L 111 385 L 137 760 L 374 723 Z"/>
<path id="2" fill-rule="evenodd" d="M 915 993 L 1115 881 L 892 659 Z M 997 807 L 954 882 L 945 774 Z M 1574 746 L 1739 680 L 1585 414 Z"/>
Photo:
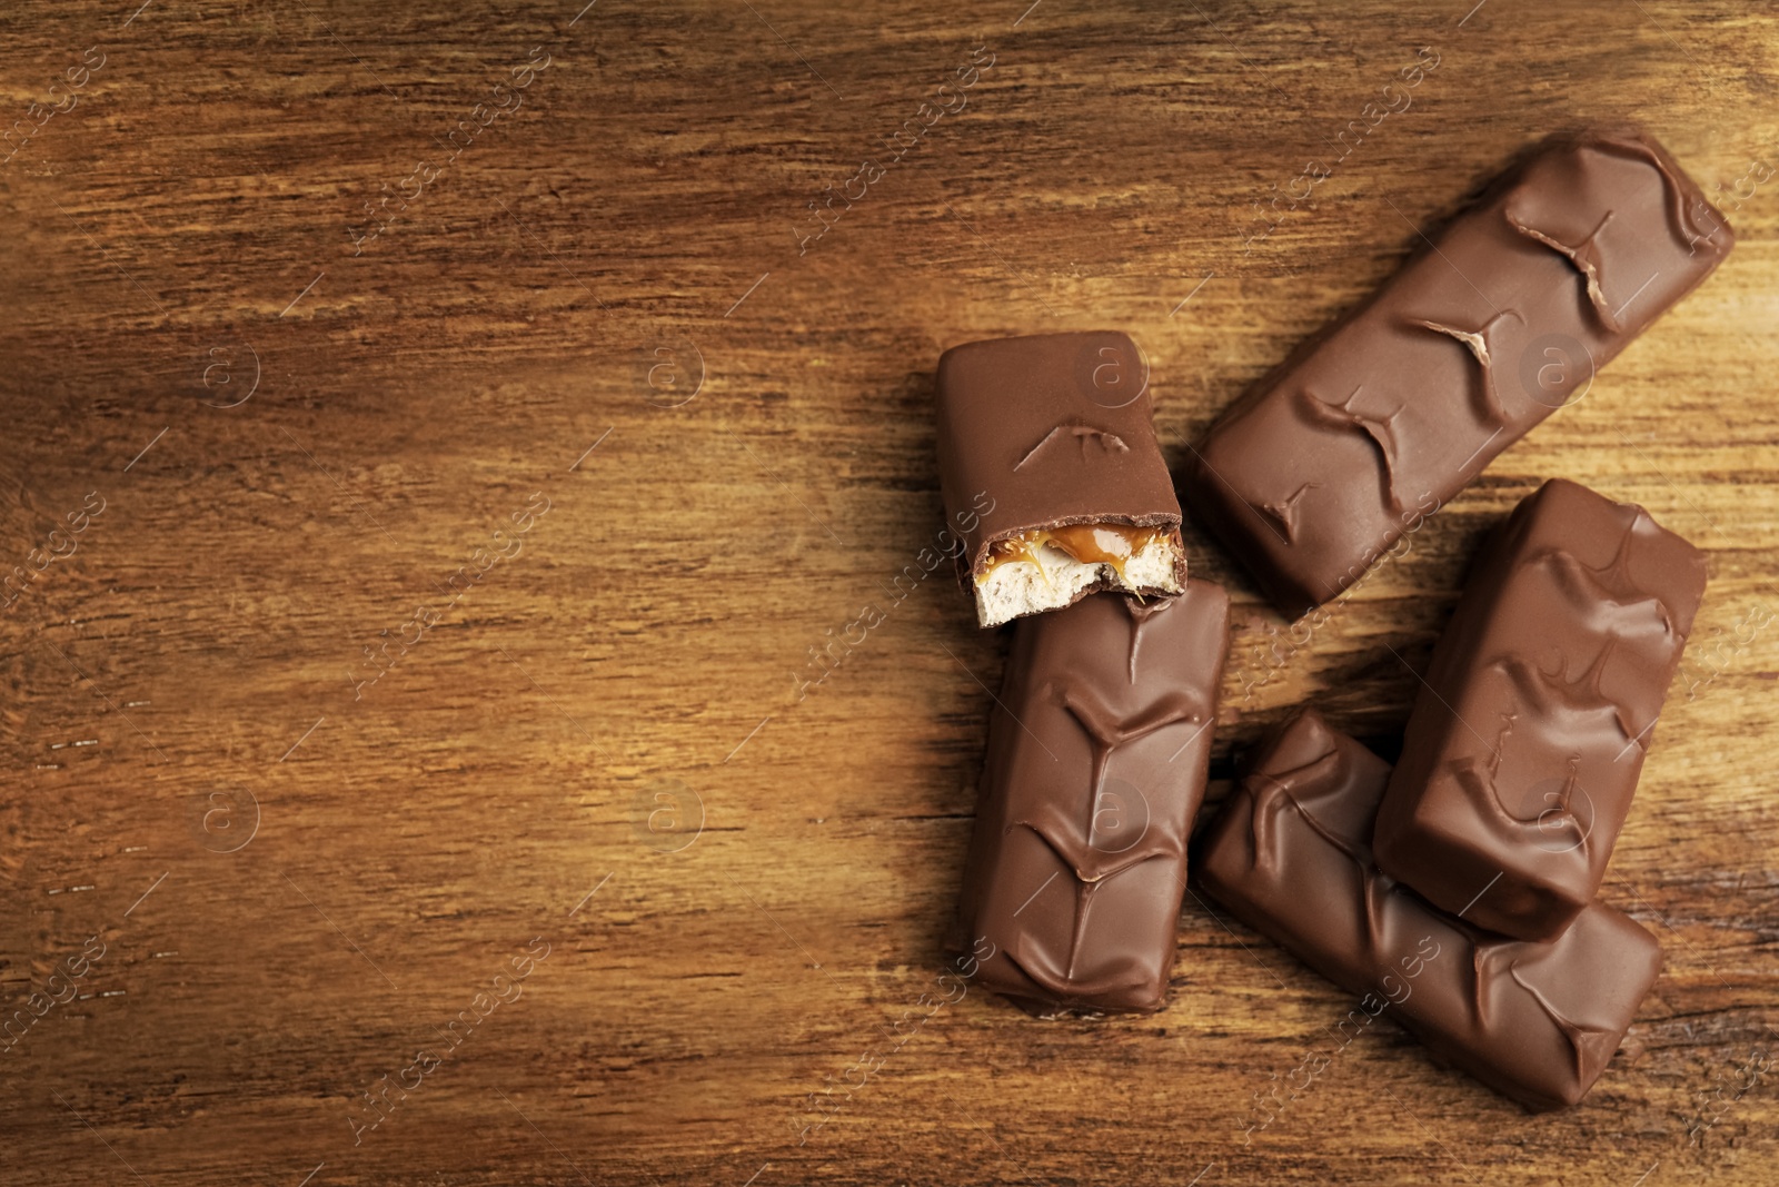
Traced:
<path id="1" fill-rule="evenodd" d="M 1181 493 L 1302 614 L 1585 392 L 1733 242 L 1653 139 L 1550 141 L 1224 413 Z"/>

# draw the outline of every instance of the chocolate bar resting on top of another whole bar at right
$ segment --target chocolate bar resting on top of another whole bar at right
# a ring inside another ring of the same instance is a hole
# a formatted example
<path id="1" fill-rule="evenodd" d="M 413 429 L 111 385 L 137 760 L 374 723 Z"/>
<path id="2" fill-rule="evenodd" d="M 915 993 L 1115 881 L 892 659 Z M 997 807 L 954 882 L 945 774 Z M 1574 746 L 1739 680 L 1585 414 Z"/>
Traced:
<path id="1" fill-rule="evenodd" d="M 1434 646 L 1377 863 L 1491 931 L 1562 933 L 1605 877 L 1703 593 L 1704 555 L 1642 507 L 1560 479 L 1521 502 Z"/>

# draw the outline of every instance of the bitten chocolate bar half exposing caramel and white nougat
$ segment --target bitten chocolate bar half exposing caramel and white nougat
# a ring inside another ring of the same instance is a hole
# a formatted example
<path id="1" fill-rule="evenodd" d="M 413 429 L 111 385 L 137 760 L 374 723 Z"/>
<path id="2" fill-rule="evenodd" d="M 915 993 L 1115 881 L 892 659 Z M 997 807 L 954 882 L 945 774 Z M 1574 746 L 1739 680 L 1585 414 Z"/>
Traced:
<path id="1" fill-rule="evenodd" d="M 982 626 L 1098 589 L 1181 591 L 1179 500 L 1147 383 L 1137 343 L 1112 331 L 939 356 L 939 491 Z"/>

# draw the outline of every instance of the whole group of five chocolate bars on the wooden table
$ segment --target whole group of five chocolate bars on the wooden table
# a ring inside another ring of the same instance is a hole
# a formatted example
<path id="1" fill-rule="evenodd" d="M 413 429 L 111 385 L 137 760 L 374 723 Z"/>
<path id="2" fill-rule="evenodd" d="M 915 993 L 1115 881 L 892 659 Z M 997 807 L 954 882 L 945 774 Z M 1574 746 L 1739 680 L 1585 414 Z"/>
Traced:
<path id="1" fill-rule="evenodd" d="M 1304 614 L 1731 244 L 1649 137 L 1546 141 L 1211 425 L 1187 502 Z M 938 404 L 977 619 L 1018 619 L 959 945 L 1037 1014 L 1160 1009 L 1229 598 L 1187 578 L 1144 359 L 1121 333 L 975 342 L 939 359 Z M 1206 829 L 1197 881 L 1441 1061 L 1578 1102 L 1662 965 L 1594 893 L 1703 591 L 1703 553 L 1644 509 L 1546 482 L 1477 559 L 1395 771 L 1302 710 Z"/>

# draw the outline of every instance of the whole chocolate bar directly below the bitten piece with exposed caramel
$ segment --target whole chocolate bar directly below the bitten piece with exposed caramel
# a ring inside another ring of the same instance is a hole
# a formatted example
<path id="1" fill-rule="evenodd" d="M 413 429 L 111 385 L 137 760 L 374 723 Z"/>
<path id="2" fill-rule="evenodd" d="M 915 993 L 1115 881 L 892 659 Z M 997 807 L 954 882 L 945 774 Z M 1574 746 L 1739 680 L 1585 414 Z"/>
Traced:
<path id="1" fill-rule="evenodd" d="M 1041 1014 L 1162 1007 L 1228 625 L 1208 582 L 1018 625 L 959 909 L 991 989 Z"/>

